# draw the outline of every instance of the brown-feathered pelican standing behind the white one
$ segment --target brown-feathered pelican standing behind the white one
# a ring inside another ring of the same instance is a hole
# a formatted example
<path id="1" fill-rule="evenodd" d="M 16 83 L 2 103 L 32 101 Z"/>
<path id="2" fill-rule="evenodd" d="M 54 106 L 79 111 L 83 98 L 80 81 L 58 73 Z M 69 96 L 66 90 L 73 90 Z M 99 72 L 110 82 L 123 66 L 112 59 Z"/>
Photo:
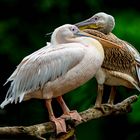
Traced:
<path id="1" fill-rule="evenodd" d="M 103 12 L 75 24 L 79 29 L 91 34 L 93 38 L 106 40 L 101 42 L 105 52 L 105 59 L 101 69 L 102 74 L 96 74 L 98 82 L 98 96 L 95 106 L 101 107 L 104 84 L 112 86 L 108 104 L 114 103 L 115 86 L 136 88 L 140 91 L 140 54 L 128 42 L 119 39 L 112 32 L 115 27 L 114 17 Z M 107 44 L 114 47 L 107 48 Z M 118 48 L 117 48 L 118 46 Z"/>

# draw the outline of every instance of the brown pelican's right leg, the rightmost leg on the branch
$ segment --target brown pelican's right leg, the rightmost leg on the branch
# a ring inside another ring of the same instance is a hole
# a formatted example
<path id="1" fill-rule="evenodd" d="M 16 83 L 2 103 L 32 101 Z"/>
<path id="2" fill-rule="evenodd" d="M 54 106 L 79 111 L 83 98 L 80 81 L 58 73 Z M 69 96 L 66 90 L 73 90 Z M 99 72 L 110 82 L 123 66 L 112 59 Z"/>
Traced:
<path id="1" fill-rule="evenodd" d="M 116 87 L 112 86 L 110 96 L 108 99 L 108 104 L 110 104 L 110 105 L 114 104 L 115 95 L 116 95 Z"/>

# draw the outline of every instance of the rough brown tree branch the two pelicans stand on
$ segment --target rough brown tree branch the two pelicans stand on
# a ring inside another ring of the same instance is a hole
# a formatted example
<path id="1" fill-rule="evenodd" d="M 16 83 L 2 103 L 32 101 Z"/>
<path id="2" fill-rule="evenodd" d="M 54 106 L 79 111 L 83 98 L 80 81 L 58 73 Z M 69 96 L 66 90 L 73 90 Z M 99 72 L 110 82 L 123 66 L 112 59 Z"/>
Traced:
<path id="1" fill-rule="evenodd" d="M 131 104 L 135 102 L 137 98 L 138 98 L 137 95 L 131 96 L 122 101 L 121 103 L 113 105 L 113 107 L 107 104 L 103 104 L 102 107 L 104 111 L 91 107 L 88 110 L 79 113 L 84 121 L 82 122 L 75 121 L 74 126 L 84 123 L 85 121 L 97 119 L 108 115 L 118 115 L 122 113 L 128 113 L 131 111 Z M 55 124 L 53 122 L 46 122 L 32 126 L 0 127 L 0 136 L 28 135 L 36 137 L 38 139 L 45 140 L 42 137 L 42 135 L 52 132 L 55 132 Z M 70 132 L 70 134 L 72 132 Z"/>

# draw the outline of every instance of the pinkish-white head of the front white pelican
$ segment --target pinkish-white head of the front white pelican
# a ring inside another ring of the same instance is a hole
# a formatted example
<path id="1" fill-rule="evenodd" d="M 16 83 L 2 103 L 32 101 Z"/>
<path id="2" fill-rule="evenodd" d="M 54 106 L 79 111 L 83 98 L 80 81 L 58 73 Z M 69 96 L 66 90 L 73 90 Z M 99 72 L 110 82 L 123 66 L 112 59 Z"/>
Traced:
<path id="1" fill-rule="evenodd" d="M 77 36 L 86 36 L 86 33 L 80 31 L 75 25 L 65 24 L 54 30 L 51 36 L 51 43 L 56 45 L 75 42 Z"/>

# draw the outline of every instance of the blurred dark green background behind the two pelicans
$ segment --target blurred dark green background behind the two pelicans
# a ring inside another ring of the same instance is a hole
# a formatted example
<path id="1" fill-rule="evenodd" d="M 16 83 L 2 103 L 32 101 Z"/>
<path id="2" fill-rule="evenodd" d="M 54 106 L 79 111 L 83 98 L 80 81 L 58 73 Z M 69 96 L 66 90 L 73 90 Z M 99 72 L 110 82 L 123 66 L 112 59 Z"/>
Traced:
<path id="1" fill-rule="evenodd" d="M 140 51 L 140 5 L 136 0 L 0 0 L 0 102 L 4 100 L 9 85 L 4 86 L 20 61 L 50 40 L 46 33 L 65 23 L 77 23 L 97 12 L 115 17 L 113 33 L 133 44 Z M 64 96 L 70 109 L 85 110 L 94 105 L 97 93 L 96 80 Z M 110 88 L 106 87 L 104 101 Z M 137 90 L 117 88 L 116 102 Z M 56 115 L 61 114 L 53 102 Z M 100 118 L 77 128 L 78 140 L 139 140 L 140 100 L 133 104 L 129 114 Z M 0 126 L 31 125 L 48 121 L 42 100 L 30 100 L 17 105 L 7 105 L 0 110 Z"/>

